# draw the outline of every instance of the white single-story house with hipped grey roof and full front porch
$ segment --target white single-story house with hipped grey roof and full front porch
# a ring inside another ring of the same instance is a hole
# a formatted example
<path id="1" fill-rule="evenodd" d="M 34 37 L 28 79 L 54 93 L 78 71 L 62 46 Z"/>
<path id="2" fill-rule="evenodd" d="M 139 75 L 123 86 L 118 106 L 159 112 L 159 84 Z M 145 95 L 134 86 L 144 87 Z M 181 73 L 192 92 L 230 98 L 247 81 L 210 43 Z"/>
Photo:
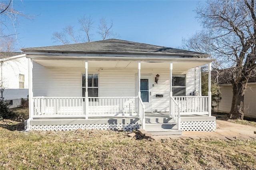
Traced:
<path id="1" fill-rule="evenodd" d="M 26 130 L 216 129 L 211 93 L 200 96 L 208 54 L 116 39 L 22 51 L 30 75 Z"/>

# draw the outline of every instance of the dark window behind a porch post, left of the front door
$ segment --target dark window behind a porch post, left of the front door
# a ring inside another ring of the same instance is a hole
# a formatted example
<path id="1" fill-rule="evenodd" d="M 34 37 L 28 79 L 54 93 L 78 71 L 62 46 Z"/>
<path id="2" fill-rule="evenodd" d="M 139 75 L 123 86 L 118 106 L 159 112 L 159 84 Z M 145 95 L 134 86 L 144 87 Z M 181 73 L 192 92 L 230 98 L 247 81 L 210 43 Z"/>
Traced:
<path id="1" fill-rule="evenodd" d="M 82 74 L 82 97 L 85 97 L 86 90 L 86 76 Z M 98 74 L 88 74 L 88 97 L 98 97 L 98 83 L 99 75 Z"/>

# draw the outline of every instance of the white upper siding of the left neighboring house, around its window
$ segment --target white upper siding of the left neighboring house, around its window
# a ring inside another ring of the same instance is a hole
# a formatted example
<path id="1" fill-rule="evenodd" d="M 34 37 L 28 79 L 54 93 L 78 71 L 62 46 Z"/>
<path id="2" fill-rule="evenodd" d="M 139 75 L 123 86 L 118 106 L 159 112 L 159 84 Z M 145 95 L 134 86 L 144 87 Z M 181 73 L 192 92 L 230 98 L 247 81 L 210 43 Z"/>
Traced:
<path id="1" fill-rule="evenodd" d="M 24 89 L 28 88 L 28 59 L 26 57 L 4 61 L 1 70 L 2 80 L 0 81 L 3 83 L 3 88 L 19 89 L 19 74 L 24 74 Z"/>

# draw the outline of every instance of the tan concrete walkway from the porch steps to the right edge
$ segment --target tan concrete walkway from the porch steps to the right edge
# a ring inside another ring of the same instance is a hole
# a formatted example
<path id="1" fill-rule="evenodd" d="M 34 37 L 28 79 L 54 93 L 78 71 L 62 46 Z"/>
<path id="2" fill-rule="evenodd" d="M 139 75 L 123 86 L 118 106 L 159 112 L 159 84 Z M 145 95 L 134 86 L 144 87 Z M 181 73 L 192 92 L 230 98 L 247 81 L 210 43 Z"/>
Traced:
<path id="1" fill-rule="evenodd" d="M 216 132 L 183 131 L 182 135 L 152 136 L 152 139 L 222 139 L 222 140 L 256 140 L 256 127 L 216 120 Z"/>

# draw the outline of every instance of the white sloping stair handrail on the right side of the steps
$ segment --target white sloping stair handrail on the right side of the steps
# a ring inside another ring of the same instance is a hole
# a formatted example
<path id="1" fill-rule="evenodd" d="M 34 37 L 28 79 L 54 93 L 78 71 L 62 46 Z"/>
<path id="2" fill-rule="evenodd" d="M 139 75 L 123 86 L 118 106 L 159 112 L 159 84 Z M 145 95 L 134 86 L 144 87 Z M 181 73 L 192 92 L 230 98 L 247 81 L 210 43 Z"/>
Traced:
<path id="1" fill-rule="evenodd" d="M 170 97 L 170 117 L 172 117 L 180 130 L 180 107 L 173 97 Z"/>

